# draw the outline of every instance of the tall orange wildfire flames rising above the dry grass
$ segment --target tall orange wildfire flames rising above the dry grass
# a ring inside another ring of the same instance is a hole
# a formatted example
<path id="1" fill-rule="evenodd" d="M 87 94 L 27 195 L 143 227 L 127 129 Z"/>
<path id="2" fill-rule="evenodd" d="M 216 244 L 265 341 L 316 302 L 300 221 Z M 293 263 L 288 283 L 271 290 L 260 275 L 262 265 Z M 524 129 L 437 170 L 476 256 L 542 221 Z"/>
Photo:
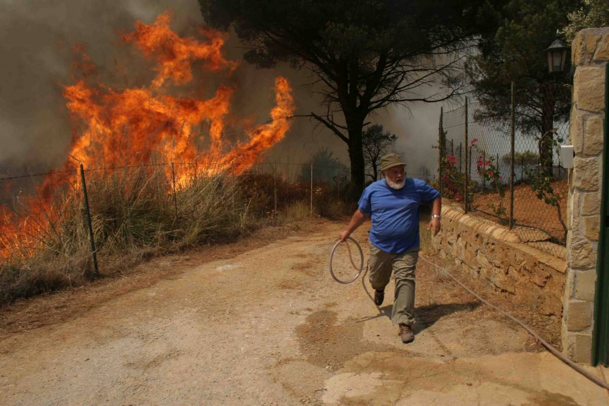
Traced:
<path id="1" fill-rule="evenodd" d="M 149 163 L 152 159 L 157 163 L 159 160 L 196 163 L 197 159 L 204 159 L 221 162 L 214 166 L 215 170 L 227 170 L 238 159 L 234 172 L 239 173 L 259 161 L 261 154 L 289 130 L 294 99 L 288 81 L 278 77 L 274 88 L 276 106 L 270 111 L 272 121 L 247 130 L 247 139 L 227 150 L 223 134 L 230 99 L 236 90 L 234 85 L 220 85 L 211 99 L 174 96 L 168 93 L 168 88 L 192 83 L 195 61 L 203 61 L 206 71 L 217 72 L 227 79 L 238 63 L 222 55 L 222 33 L 200 29 L 203 40 L 181 38 L 169 23 L 170 15 L 166 12 L 150 25 L 137 21 L 135 32 L 122 37 L 155 62 L 156 75 L 149 86 L 90 85 L 95 66 L 82 48 L 77 49 L 80 62 L 74 66 L 83 78 L 65 86 L 63 96 L 74 124 L 69 155 L 85 168 L 121 167 Z M 202 134 L 200 129 L 205 126 L 208 133 Z M 205 151 L 198 149 L 201 144 L 208 145 Z M 75 169 L 74 160 L 67 158 L 62 169 Z M 76 172 L 47 177 L 38 194 L 48 200 L 62 184 L 75 184 L 77 179 Z M 6 216 L 4 223 L 0 232 L 7 228 Z"/>

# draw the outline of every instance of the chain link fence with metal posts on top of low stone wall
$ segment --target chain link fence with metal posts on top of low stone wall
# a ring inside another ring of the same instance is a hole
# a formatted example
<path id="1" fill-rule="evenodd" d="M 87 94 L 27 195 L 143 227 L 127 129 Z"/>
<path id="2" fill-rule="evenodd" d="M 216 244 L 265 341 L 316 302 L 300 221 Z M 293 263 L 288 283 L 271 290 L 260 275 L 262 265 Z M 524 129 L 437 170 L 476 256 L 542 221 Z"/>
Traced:
<path id="1" fill-rule="evenodd" d="M 511 106 L 493 114 L 484 101 L 443 112 L 438 186 L 449 205 L 508 225 L 524 241 L 565 245 L 568 172 L 558 155 L 568 142 L 571 89 L 527 105 L 538 91 L 513 91 L 513 118 Z"/>

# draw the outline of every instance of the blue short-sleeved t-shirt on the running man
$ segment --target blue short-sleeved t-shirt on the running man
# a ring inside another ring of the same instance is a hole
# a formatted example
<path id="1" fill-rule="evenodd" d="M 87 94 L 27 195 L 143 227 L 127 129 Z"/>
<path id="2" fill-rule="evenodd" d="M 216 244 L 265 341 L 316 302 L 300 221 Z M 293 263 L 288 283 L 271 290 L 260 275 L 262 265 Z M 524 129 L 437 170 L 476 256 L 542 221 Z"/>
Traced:
<path id="1" fill-rule="evenodd" d="M 359 198 L 359 210 L 372 217 L 370 242 L 387 253 L 399 254 L 420 245 L 419 206 L 440 194 L 420 179 L 406 178 L 393 189 L 384 179 L 371 183 Z"/>

